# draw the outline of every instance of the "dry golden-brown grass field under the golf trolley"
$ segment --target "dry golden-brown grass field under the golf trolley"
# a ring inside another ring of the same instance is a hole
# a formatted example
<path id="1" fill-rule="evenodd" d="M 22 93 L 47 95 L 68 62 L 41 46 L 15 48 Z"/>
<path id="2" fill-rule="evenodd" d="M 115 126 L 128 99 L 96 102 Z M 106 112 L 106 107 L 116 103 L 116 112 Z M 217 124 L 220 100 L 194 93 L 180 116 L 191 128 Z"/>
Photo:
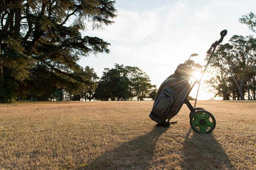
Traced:
<path id="1" fill-rule="evenodd" d="M 192 101 L 193 103 L 193 101 Z M 256 169 L 256 102 L 198 101 L 216 118 L 191 130 L 184 105 L 155 127 L 152 101 L 0 105 L 0 169 Z"/>

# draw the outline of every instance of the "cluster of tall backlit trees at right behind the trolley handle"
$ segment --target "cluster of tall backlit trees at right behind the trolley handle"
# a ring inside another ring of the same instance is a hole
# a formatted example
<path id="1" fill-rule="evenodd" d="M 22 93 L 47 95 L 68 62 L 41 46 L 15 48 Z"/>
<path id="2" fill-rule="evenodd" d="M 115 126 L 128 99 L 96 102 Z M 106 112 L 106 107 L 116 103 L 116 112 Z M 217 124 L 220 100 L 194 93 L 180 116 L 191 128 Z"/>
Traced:
<path id="1" fill-rule="evenodd" d="M 228 82 L 229 76 L 232 78 L 238 89 L 238 100 L 244 100 L 245 96 L 245 84 L 248 82 L 248 86 L 251 81 L 249 77 L 249 70 L 255 66 L 256 61 L 256 39 L 252 36 L 238 36 L 234 35 L 229 40 L 229 43 L 220 45 L 216 52 L 213 54 L 213 59 L 210 66 L 217 68 L 219 73 L 216 76 L 215 80 L 217 86 L 214 85 L 213 81 L 209 81 L 214 88 L 217 89 L 219 94 L 223 94 L 223 98 L 228 99 L 230 92 L 228 92 Z M 212 79 L 213 80 L 213 79 Z M 229 84 L 232 82 L 229 81 Z M 247 88 L 250 91 L 250 88 Z M 248 91 L 248 94 L 249 94 Z M 234 92 L 234 89 L 232 89 Z M 227 96 L 225 95 L 227 94 Z M 226 96 L 226 97 L 225 97 Z M 248 95 L 249 98 L 249 95 Z"/>

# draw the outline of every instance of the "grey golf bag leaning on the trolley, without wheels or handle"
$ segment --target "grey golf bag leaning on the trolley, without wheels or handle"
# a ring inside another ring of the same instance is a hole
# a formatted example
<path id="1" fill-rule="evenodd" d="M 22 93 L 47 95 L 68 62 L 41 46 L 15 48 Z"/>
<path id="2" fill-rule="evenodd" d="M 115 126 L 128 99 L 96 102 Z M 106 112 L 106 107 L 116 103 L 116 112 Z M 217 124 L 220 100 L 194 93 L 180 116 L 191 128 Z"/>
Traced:
<path id="1" fill-rule="evenodd" d="M 168 126 L 166 120 L 173 118 L 179 112 L 188 96 L 191 75 L 191 67 L 180 64 L 174 74 L 166 78 L 157 91 L 153 109 L 149 115 L 152 120 Z"/>

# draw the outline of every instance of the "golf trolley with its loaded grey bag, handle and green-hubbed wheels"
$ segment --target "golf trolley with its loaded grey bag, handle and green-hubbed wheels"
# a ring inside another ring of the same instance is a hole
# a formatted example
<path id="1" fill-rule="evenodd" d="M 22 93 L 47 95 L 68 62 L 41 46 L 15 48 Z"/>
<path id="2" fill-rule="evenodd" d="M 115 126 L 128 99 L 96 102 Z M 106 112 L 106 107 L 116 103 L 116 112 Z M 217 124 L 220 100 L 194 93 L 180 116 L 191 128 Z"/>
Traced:
<path id="1" fill-rule="evenodd" d="M 207 51 L 209 59 L 204 69 L 202 65 L 190 60 L 191 57 L 195 57 L 198 54 L 191 54 L 189 59 L 185 61 L 185 63 L 178 65 L 174 74 L 166 78 L 166 80 L 162 83 L 157 91 L 153 109 L 149 114 L 149 117 L 157 122 L 156 126 L 170 126 L 171 118 L 173 118 L 180 111 L 182 105 L 185 103 L 191 111 L 189 113 L 190 125 L 194 131 L 198 133 L 211 133 L 214 130 L 216 126 L 214 116 L 209 111 L 206 111 L 201 107 L 196 107 L 196 102 L 202 76 L 204 75 L 207 66 L 211 61 L 216 47 L 223 41 L 223 38 L 226 35 L 227 30 L 221 31 L 220 39 L 215 41 Z M 190 84 L 189 80 L 193 78 L 194 72 L 201 72 L 201 76 L 198 78 L 198 80 L 195 80 L 193 84 Z M 195 104 L 192 106 L 188 100 L 188 96 L 197 83 L 198 91 L 195 98 Z"/>

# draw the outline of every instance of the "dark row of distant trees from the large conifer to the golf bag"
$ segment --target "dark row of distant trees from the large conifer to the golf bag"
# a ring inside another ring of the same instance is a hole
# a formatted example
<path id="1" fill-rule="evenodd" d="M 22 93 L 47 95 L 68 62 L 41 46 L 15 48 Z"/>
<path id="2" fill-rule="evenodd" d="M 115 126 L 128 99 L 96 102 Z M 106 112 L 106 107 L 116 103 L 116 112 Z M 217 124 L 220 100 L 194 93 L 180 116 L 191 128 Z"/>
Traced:
<path id="1" fill-rule="evenodd" d="M 40 101 L 91 101 L 91 100 L 154 100 L 157 89 L 150 83 L 148 75 L 137 67 L 115 64 L 115 68 L 105 68 L 101 78 L 97 76 L 94 68 L 86 66 L 80 75 L 87 80 L 80 87 L 66 89 L 56 88 L 51 93 L 47 91 L 38 95 L 37 89 L 31 87 L 31 91 L 25 98 L 31 97 Z M 38 87 L 44 89 L 44 85 L 50 82 L 38 82 Z M 43 85 L 43 86 L 41 86 Z M 74 91 L 74 93 L 72 93 Z M 19 93 L 21 94 L 21 93 Z M 21 98 L 21 99 L 24 99 Z"/>

